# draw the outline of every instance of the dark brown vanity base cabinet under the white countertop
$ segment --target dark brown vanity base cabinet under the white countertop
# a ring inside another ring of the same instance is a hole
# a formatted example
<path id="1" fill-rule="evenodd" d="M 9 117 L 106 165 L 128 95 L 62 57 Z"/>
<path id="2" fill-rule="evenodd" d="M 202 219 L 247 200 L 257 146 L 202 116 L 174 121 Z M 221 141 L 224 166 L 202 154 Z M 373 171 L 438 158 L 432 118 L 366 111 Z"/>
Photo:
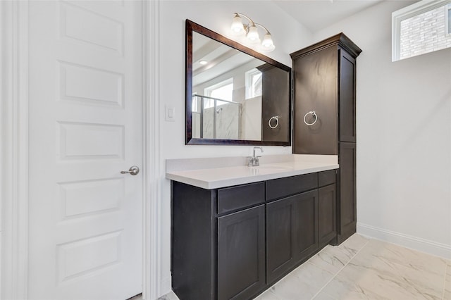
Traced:
<path id="1" fill-rule="evenodd" d="M 173 290 L 252 299 L 335 238 L 335 170 L 221 189 L 171 182 Z"/>

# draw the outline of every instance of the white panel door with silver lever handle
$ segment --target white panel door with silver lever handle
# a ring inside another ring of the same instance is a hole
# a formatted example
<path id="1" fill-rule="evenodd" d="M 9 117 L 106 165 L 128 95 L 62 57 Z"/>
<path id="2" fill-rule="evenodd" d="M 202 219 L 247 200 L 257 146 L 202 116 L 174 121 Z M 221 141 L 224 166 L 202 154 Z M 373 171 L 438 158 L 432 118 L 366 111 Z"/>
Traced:
<path id="1" fill-rule="evenodd" d="M 30 1 L 30 299 L 142 292 L 141 6 Z"/>

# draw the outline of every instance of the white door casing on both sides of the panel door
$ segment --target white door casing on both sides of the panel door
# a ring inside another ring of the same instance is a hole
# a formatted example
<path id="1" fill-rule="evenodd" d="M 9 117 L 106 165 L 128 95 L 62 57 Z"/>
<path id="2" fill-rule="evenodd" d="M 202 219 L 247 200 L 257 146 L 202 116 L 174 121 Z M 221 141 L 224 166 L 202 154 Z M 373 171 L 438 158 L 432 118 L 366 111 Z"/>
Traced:
<path id="1" fill-rule="evenodd" d="M 161 272 L 158 1 L 143 10 L 143 298 L 156 299 Z M 0 1 L 0 299 L 27 299 L 28 3 Z"/>

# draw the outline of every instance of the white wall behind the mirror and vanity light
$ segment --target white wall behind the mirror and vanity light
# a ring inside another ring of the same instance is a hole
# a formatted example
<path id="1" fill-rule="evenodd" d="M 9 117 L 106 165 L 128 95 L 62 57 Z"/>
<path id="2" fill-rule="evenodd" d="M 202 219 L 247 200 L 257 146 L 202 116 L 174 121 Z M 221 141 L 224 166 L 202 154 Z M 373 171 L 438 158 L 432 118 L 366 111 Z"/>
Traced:
<path id="1" fill-rule="evenodd" d="M 159 101 L 161 109 L 161 291 L 171 290 L 171 185 L 164 179 L 168 158 L 249 156 L 252 146 L 185 146 L 185 19 L 229 36 L 234 12 L 245 13 L 268 27 L 276 50 L 271 58 L 291 66 L 290 53 L 311 44 L 311 32 L 271 1 L 161 1 Z M 287 32 L 287 28 L 290 28 Z M 175 121 L 164 121 L 165 106 L 175 108 Z M 264 154 L 291 153 L 290 147 L 265 146 Z"/>

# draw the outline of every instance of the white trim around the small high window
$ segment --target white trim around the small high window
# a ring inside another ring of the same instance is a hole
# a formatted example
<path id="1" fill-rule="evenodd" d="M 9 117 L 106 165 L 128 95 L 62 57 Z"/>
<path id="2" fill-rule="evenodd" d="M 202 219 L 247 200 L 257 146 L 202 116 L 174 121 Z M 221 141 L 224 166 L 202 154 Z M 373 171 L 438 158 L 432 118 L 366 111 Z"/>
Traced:
<path id="1" fill-rule="evenodd" d="M 400 61 L 401 57 L 401 22 L 447 4 L 451 0 L 421 0 L 392 13 L 392 61 Z"/>

